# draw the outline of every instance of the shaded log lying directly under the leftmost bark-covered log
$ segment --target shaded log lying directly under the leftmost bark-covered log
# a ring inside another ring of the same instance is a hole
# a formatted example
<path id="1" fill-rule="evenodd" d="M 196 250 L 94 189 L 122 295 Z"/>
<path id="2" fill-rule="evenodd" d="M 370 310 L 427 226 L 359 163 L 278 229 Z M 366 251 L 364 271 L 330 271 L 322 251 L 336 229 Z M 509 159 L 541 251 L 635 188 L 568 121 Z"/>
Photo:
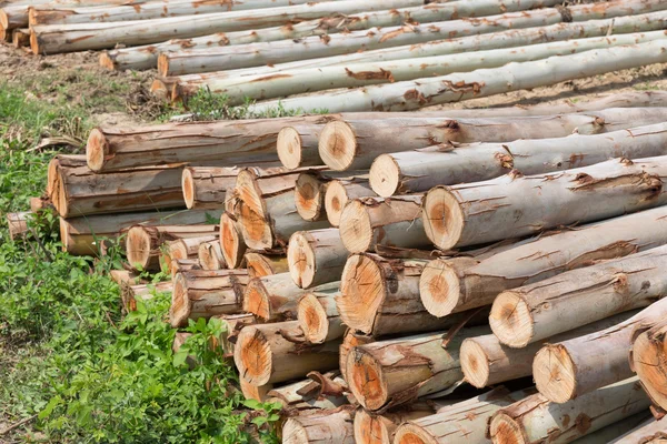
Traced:
<path id="1" fill-rule="evenodd" d="M 116 240 L 133 225 L 201 225 L 220 211 L 160 211 L 146 213 L 104 214 L 84 218 L 60 218 L 60 239 L 70 254 L 98 254 L 103 240 Z"/>

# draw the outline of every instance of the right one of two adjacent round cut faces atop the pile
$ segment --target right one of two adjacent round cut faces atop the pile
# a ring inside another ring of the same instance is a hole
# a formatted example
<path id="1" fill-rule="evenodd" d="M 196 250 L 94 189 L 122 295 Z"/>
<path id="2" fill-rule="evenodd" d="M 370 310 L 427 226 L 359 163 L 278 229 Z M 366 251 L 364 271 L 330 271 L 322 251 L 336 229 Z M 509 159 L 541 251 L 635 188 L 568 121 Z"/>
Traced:
<path id="1" fill-rule="evenodd" d="M 357 137 L 346 122 L 329 122 L 319 137 L 318 151 L 320 159 L 331 170 L 350 169 L 357 155 Z"/>

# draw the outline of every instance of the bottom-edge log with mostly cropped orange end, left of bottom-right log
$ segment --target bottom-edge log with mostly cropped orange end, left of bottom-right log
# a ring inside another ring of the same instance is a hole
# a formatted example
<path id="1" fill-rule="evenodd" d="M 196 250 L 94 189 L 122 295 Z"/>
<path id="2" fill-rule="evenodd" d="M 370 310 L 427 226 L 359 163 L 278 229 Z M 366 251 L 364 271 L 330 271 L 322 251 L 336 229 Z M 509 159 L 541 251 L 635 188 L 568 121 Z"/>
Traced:
<path id="1" fill-rule="evenodd" d="M 487 423 L 502 407 L 532 392 L 494 389 L 482 395 L 440 408 L 438 413 L 405 422 L 396 431 L 395 444 L 486 443 Z"/>

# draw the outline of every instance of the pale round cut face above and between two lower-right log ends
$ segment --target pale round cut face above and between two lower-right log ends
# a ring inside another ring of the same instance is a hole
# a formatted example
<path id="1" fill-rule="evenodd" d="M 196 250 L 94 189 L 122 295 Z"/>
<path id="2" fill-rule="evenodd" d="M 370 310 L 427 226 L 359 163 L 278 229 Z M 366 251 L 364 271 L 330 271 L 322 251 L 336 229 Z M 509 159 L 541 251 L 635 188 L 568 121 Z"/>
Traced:
<path id="1" fill-rule="evenodd" d="M 522 349 L 532 340 L 532 315 L 521 295 L 504 291 L 494 301 L 489 325 L 498 340 L 510 347 Z"/>

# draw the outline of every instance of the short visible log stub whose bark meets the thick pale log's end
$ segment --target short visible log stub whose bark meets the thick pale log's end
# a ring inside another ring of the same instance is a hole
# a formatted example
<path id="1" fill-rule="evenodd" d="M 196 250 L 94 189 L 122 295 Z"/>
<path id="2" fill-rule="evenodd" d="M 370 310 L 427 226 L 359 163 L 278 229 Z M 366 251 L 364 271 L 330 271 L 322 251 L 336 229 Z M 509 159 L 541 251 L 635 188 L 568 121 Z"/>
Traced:
<path id="1" fill-rule="evenodd" d="M 416 194 L 349 201 L 340 215 L 342 244 L 350 253 L 377 245 L 415 249 L 430 245 L 424 230 L 422 198 Z"/>

